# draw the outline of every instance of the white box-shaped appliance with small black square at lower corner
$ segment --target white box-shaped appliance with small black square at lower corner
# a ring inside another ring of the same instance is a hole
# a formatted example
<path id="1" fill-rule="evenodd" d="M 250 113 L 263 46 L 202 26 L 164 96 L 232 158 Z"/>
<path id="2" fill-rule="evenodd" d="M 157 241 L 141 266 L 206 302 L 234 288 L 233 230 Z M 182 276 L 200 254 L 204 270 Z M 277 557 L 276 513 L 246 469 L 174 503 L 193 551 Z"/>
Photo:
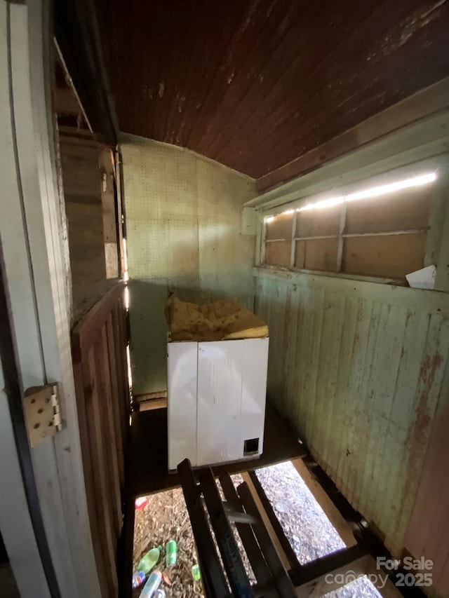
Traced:
<path id="1" fill-rule="evenodd" d="M 168 343 L 168 469 L 262 454 L 268 338 Z"/>

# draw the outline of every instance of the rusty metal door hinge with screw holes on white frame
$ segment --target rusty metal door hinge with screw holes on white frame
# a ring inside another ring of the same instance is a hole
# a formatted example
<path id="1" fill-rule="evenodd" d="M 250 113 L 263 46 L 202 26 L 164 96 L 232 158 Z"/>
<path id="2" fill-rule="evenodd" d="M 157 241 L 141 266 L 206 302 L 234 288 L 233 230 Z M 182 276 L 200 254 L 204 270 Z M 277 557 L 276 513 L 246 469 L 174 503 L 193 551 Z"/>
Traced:
<path id="1" fill-rule="evenodd" d="M 62 430 L 57 383 L 27 388 L 23 407 L 32 447 Z"/>

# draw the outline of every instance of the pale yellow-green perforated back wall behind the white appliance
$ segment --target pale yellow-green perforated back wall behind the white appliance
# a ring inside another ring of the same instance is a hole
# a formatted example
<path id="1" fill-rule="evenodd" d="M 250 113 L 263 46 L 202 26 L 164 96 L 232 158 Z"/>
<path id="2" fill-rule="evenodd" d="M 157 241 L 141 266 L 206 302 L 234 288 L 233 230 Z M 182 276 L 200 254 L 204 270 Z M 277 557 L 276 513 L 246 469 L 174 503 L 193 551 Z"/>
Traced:
<path id="1" fill-rule="evenodd" d="M 168 292 L 253 309 L 254 237 L 240 234 L 252 179 L 192 151 L 121 137 L 135 395 L 166 390 Z"/>

